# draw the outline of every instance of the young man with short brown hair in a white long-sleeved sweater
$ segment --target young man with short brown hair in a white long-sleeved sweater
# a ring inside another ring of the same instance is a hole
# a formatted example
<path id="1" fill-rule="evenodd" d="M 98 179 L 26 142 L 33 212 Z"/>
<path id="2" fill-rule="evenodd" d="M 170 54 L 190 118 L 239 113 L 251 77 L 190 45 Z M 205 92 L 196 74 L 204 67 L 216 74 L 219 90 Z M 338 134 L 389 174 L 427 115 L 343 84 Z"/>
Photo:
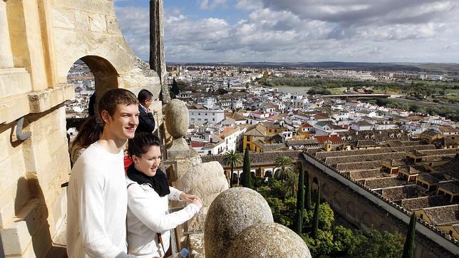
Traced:
<path id="1" fill-rule="evenodd" d="M 68 182 L 68 257 L 130 257 L 123 145 L 134 137 L 138 100 L 125 89 L 110 90 L 98 112 L 98 123 L 105 124 L 102 137 L 78 158 Z"/>

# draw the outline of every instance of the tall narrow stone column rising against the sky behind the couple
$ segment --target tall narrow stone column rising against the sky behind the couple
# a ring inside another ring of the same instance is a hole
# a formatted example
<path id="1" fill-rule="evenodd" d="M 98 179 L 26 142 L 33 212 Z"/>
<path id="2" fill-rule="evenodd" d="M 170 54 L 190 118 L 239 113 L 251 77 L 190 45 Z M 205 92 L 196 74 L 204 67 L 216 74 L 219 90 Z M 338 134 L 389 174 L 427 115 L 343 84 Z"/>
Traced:
<path id="1" fill-rule="evenodd" d="M 150 0 L 150 69 L 160 76 L 163 103 L 170 100 L 164 53 L 163 0 Z"/>

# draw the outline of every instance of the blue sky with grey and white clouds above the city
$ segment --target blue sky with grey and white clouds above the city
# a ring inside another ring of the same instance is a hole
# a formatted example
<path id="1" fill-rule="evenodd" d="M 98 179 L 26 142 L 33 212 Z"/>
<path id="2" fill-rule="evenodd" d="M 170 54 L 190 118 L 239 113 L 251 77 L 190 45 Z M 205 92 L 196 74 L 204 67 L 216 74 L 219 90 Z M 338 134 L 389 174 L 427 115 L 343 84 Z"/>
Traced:
<path id="1" fill-rule="evenodd" d="M 115 0 L 148 60 L 148 0 Z M 457 0 L 164 0 L 168 62 L 459 63 Z"/>

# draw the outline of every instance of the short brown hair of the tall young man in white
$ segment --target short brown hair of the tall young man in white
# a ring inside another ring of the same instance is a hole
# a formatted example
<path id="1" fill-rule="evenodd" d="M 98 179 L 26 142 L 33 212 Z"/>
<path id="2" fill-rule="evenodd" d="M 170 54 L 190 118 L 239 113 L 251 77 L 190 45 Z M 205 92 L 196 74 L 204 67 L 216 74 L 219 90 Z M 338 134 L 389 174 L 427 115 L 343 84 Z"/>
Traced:
<path id="1" fill-rule="evenodd" d="M 107 110 L 109 115 L 113 115 L 118 104 L 138 105 L 138 100 L 135 98 L 134 93 L 124 88 L 107 91 L 99 100 L 99 115 L 101 116 L 103 110 Z"/>

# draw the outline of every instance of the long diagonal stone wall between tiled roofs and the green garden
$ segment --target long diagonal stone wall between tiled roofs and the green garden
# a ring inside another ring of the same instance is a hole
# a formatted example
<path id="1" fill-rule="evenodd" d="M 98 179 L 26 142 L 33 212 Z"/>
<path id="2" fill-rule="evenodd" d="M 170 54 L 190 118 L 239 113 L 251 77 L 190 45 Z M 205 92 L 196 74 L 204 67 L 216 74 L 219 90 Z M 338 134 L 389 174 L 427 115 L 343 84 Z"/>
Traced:
<path id="1" fill-rule="evenodd" d="M 410 220 L 408 212 L 401 207 L 390 205 L 378 197 L 376 192 L 363 188 L 339 175 L 331 167 L 314 160 L 309 155 L 306 158 L 305 170 L 311 182 L 316 177 L 321 184 L 322 197 L 329 202 L 336 212 L 347 221 L 363 229 L 386 230 L 406 234 Z M 316 185 L 313 184 L 313 188 Z M 381 196 L 381 195 L 380 195 Z M 452 257 L 457 245 L 437 232 L 433 232 L 422 223 L 416 224 L 416 257 Z M 447 252 L 448 250 L 449 252 Z"/>

